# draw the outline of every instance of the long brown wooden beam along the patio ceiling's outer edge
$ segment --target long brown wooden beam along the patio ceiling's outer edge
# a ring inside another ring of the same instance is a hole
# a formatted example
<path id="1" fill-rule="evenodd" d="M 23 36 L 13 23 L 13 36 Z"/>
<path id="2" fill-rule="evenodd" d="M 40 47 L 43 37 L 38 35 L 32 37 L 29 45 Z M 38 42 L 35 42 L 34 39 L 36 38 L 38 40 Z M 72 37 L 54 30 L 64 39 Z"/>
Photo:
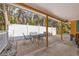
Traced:
<path id="1" fill-rule="evenodd" d="M 32 6 L 31 4 L 28 4 L 28 3 L 27 4 L 25 4 L 25 3 L 16 3 L 16 4 L 12 4 L 12 5 L 18 6 L 22 9 L 26 9 L 26 10 L 29 9 L 29 10 L 32 10 L 32 11 L 35 11 L 35 12 L 39 12 L 43 15 L 54 18 L 54 20 L 63 21 L 63 22 L 67 21 L 67 20 L 64 20 L 63 18 L 61 18 L 61 17 L 59 17 L 55 14 L 52 14 L 52 13 L 48 12 L 47 10 Z"/>

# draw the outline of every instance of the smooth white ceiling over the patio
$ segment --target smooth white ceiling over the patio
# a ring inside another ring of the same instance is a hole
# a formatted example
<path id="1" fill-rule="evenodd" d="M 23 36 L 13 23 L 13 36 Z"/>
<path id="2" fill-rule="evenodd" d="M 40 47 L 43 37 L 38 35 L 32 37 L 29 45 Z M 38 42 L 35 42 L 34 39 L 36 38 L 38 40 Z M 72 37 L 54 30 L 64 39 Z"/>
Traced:
<path id="1" fill-rule="evenodd" d="M 28 5 L 57 15 L 63 20 L 79 20 L 79 3 L 28 3 Z"/>

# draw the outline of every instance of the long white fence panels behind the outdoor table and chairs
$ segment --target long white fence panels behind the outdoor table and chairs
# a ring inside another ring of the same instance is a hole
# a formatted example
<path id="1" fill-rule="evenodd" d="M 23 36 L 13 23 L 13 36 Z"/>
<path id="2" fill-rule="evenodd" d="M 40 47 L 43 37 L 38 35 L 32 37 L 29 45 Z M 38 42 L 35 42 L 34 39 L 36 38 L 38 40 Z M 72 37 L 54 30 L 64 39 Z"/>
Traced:
<path id="1" fill-rule="evenodd" d="M 29 35 L 30 32 L 37 32 L 38 34 L 42 34 L 46 32 L 46 28 L 45 26 L 11 24 L 9 25 L 8 29 L 9 37 L 23 36 L 23 33 L 25 35 Z M 48 27 L 48 32 L 52 33 L 52 35 L 56 35 L 56 28 Z"/>

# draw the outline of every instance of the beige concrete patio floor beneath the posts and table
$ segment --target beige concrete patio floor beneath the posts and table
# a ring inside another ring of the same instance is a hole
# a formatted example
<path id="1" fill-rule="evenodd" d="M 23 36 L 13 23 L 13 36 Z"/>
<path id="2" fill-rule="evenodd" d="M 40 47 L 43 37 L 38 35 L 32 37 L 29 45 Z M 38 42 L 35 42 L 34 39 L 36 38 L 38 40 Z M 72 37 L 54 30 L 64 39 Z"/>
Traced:
<path id="1" fill-rule="evenodd" d="M 76 45 L 69 41 L 68 35 L 63 35 L 63 39 L 60 39 L 60 35 L 49 36 L 49 47 L 45 47 L 45 40 L 43 46 L 31 44 L 30 41 L 18 41 L 17 42 L 17 54 L 18 56 L 78 56 L 79 49 Z M 25 43 L 24 43 L 25 42 Z M 30 43 L 29 43 L 30 42 Z"/>

